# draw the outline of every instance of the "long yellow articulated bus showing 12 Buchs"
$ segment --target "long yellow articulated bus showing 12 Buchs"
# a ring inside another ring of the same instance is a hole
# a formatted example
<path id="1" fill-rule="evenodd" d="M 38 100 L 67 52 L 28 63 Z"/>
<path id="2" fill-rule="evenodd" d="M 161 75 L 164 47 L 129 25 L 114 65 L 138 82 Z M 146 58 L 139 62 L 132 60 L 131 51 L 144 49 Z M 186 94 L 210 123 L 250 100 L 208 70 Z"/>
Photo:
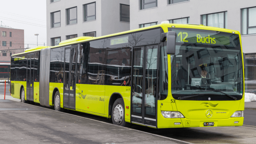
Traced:
<path id="1" fill-rule="evenodd" d="M 242 126 L 238 31 L 160 24 L 11 56 L 11 96 L 153 128 Z"/>

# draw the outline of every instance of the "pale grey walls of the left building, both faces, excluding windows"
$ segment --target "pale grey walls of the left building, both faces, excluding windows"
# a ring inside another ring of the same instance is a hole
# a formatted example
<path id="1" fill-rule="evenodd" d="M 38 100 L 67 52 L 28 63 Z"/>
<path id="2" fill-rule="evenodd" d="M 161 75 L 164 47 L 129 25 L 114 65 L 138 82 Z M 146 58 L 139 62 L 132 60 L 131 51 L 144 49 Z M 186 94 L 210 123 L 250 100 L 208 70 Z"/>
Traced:
<path id="1" fill-rule="evenodd" d="M 96 20 L 83 22 L 83 4 L 96 1 Z M 46 0 L 47 18 L 47 43 L 51 44 L 51 38 L 61 37 L 66 40 L 66 35 L 77 34 L 83 36 L 85 32 L 96 31 L 96 37 L 126 31 L 130 29 L 130 23 L 120 22 L 120 3 L 128 4 L 129 0 L 60 0 L 50 3 Z M 66 25 L 66 9 L 77 6 L 77 24 Z M 60 27 L 51 28 L 51 13 L 60 10 Z"/>

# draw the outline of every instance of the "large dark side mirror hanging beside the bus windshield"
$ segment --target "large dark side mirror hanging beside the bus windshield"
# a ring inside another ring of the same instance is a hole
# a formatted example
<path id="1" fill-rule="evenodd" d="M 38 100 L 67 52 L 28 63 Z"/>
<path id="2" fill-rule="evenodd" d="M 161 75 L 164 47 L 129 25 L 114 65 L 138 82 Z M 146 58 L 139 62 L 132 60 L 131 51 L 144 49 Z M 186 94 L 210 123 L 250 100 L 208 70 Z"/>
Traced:
<path id="1" fill-rule="evenodd" d="M 174 55 L 176 51 L 176 32 L 168 31 L 166 33 L 161 33 L 161 41 L 167 41 L 167 54 Z"/>

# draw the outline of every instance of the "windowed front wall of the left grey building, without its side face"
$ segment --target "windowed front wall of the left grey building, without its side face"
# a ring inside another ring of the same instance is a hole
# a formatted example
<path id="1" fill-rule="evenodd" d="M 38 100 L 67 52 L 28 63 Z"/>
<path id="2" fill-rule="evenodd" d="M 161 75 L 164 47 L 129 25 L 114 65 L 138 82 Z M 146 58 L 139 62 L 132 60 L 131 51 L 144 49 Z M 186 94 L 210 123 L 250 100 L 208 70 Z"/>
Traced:
<path id="1" fill-rule="evenodd" d="M 83 4 L 96 1 L 96 20 L 83 22 Z M 66 25 L 66 9 L 77 6 L 77 24 Z M 60 27 L 51 28 L 51 13 L 60 10 Z M 61 37 L 66 40 L 66 35 L 77 34 L 82 37 L 85 32 L 96 31 L 96 36 L 101 35 L 101 0 L 60 0 L 50 3 L 46 1 L 47 19 L 47 43 L 51 44 L 51 38 Z"/>

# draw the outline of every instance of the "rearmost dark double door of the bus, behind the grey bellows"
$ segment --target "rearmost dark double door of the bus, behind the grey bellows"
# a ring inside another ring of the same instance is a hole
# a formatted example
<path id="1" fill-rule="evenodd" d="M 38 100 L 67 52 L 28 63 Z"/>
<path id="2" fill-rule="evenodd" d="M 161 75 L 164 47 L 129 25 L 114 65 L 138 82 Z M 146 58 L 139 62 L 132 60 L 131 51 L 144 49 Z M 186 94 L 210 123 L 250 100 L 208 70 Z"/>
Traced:
<path id="1" fill-rule="evenodd" d="M 27 100 L 34 101 L 34 54 L 27 60 Z"/>

